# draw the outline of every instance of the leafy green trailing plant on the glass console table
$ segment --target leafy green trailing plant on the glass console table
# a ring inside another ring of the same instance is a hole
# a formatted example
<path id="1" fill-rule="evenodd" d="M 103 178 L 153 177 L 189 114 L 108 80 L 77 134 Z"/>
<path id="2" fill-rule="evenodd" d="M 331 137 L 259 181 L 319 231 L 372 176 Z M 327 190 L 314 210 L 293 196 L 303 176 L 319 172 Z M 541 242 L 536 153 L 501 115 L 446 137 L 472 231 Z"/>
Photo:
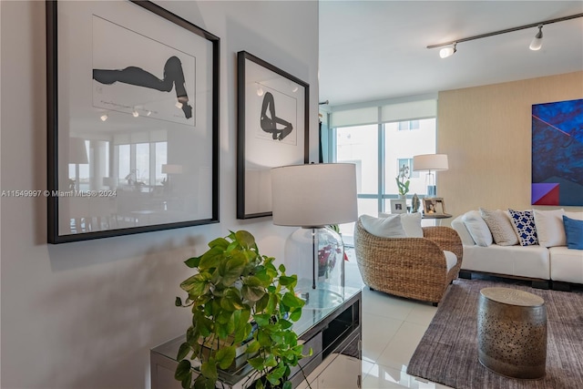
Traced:
<path id="1" fill-rule="evenodd" d="M 286 275 L 284 265 L 276 267 L 274 258 L 261 255 L 245 230 L 210 241 L 209 247 L 185 261 L 197 274 L 180 283 L 189 295 L 184 304 L 176 298 L 177 306 L 191 310 L 192 325 L 179 348 L 175 378 L 183 388 L 214 388 L 218 370 L 229 368 L 245 343 L 241 353 L 249 355 L 257 372 L 255 387 L 269 382 L 269 387 L 291 389 L 290 368 L 303 356 L 292 330 L 304 305 L 294 292 L 297 276 Z M 193 359 L 201 362 L 194 382 Z"/>

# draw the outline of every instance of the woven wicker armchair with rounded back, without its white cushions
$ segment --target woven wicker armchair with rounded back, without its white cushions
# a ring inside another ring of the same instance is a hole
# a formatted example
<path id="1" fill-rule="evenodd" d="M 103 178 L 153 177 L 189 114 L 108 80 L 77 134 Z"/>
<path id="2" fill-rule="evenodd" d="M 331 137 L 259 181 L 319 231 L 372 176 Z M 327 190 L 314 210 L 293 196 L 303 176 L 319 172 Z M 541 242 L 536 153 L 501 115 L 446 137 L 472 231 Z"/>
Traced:
<path id="1" fill-rule="evenodd" d="M 437 305 L 462 266 L 463 246 L 449 227 L 424 227 L 424 238 L 380 238 L 354 227 L 354 249 L 363 282 L 373 290 Z M 457 263 L 446 271 L 445 254 Z"/>

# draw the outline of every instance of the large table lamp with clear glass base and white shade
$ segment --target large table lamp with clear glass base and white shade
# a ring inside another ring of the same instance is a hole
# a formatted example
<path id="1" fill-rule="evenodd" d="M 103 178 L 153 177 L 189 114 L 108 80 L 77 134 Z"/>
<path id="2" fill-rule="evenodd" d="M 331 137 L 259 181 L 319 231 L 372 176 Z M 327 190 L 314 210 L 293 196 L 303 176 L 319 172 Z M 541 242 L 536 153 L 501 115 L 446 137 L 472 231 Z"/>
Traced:
<path id="1" fill-rule="evenodd" d="M 302 227 L 285 244 L 285 262 L 298 274 L 306 308 L 343 302 L 342 237 L 326 228 L 357 219 L 353 164 L 309 164 L 271 170 L 273 223 Z M 297 270 L 297 271 L 296 271 Z"/>

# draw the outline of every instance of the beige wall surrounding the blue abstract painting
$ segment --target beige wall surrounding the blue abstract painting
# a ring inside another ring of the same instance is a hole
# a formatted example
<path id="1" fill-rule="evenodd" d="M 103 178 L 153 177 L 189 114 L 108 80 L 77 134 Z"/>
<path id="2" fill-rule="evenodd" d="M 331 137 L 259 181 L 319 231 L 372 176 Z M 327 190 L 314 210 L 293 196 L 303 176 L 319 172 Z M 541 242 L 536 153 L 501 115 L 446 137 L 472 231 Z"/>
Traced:
<path id="1" fill-rule="evenodd" d="M 531 107 L 576 98 L 583 72 L 440 92 L 437 152 L 449 156 L 449 170 L 437 173 L 437 192 L 447 212 L 533 208 Z"/>

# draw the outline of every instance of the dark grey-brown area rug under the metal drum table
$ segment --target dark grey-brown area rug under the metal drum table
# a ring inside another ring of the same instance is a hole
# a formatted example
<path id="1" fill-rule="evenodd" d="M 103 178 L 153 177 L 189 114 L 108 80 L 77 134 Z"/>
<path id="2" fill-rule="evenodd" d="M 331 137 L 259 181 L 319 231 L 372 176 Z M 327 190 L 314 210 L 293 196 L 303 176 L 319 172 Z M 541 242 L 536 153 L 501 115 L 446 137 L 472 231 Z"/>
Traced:
<path id="1" fill-rule="evenodd" d="M 547 374 L 506 378 L 477 359 L 477 302 L 482 288 L 503 286 L 537 294 L 547 304 Z M 457 389 L 583 388 L 583 292 L 543 291 L 522 282 L 456 280 L 415 349 L 407 374 Z"/>

